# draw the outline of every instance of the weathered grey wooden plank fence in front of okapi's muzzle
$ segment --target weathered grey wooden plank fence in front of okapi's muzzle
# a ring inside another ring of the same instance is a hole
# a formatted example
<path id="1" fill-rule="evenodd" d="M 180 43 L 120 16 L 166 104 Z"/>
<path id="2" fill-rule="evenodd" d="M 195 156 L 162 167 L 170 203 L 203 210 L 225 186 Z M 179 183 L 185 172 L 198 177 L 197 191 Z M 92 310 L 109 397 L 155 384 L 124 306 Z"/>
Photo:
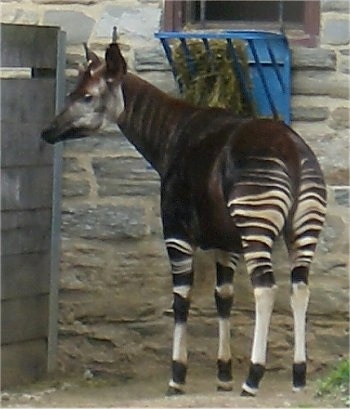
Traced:
<path id="1" fill-rule="evenodd" d="M 46 372 L 55 336 L 59 175 L 57 150 L 40 133 L 56 112 L 62 37 L 59 28 L 12 24 L 1 24 L 1 35 L 1 66 L 14 70 L 1 84 L 1 382 L 7 387 Z M 18 67 L 29 78 L 18 77 Z"/>

